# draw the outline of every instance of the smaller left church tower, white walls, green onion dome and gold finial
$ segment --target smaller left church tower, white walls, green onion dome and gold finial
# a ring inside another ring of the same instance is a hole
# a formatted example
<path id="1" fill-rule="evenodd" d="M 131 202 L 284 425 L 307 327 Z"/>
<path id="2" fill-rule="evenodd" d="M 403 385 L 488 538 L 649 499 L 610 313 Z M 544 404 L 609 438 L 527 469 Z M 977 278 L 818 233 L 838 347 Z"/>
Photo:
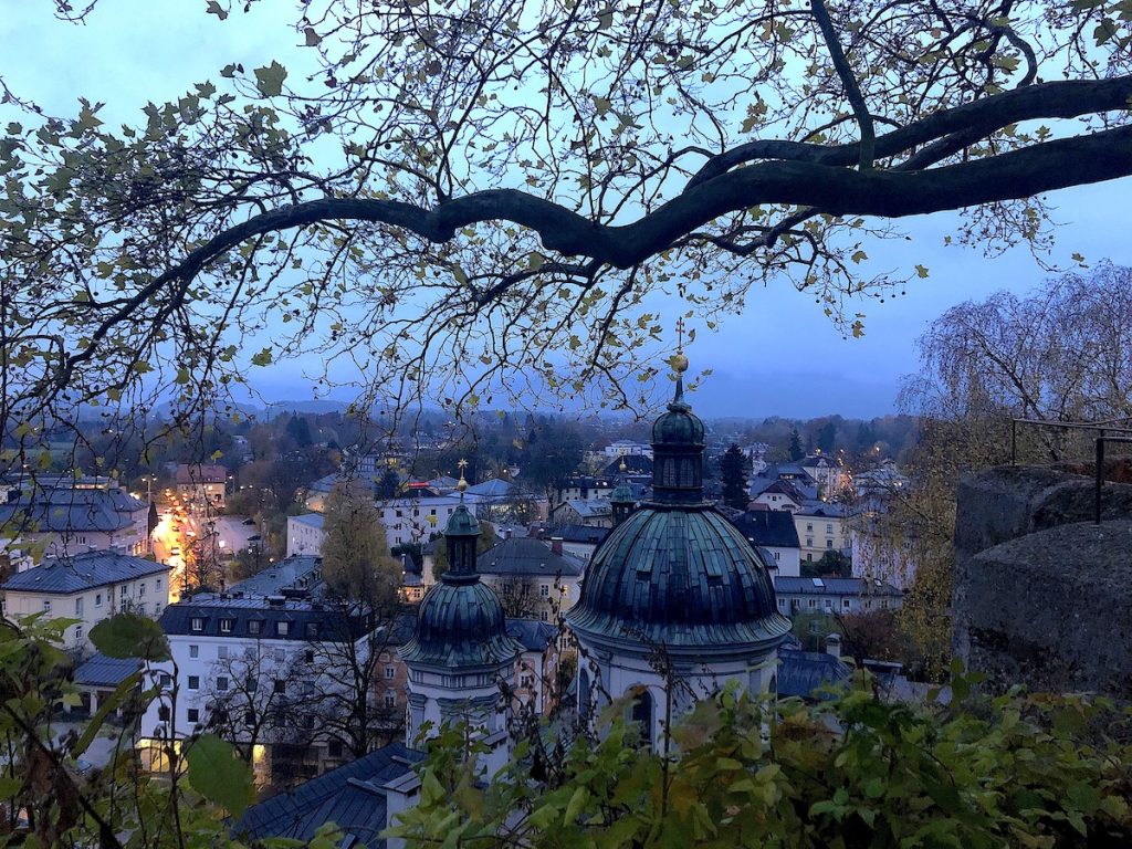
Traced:
<path id="1" fill-rule="evenodd" d="M 461 499 L 466 488 L 461 473 Z M 475 571 L 479 535 L 479 522 L 461 500 L 444 531 L 448 571 L 426 593 L 415 633 L 400 650 L 409 668 L 405 735 L 412 746 L 426 723 L 435 736 L 445 723 L 468 722 L 505 758 L 507 705 L 499 685 L 514 683 L 523 646 L 507 635 L 499 598 Z"/>

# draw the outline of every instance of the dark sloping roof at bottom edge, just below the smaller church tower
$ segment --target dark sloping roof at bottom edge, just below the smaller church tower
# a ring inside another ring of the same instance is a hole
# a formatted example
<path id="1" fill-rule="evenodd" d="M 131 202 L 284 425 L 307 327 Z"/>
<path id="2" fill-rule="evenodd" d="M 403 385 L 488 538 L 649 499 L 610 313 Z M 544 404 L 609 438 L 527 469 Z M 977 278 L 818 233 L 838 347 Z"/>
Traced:
<path id="1" fill-rule="evenodd" d="M 348 835 L 344 846 L 365 843 L 379 849 L 385 841 L 378 834 L 388 816 L 381 786 L 411 772 L 422 757 L 400 743 L 391 744 L 252 805 L 232 831 L 245 840 L 291 838 L 306 842 L 320 826 L 334 823 Z"/>

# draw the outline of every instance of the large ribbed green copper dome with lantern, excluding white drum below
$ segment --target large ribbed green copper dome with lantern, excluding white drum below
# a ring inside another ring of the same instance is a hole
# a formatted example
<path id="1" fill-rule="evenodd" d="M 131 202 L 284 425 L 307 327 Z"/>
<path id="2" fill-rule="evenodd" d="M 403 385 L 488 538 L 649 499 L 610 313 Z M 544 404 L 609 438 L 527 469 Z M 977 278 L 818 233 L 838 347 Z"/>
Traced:
<path id="1" fill-rule="evenodd" d="M 790 629 L 767 564 L 703 500 L 703 423 L 676 397 L 653 426 L 653 499 L 594 552 L 567 620 L 580 637 L 773 649 Z"/>

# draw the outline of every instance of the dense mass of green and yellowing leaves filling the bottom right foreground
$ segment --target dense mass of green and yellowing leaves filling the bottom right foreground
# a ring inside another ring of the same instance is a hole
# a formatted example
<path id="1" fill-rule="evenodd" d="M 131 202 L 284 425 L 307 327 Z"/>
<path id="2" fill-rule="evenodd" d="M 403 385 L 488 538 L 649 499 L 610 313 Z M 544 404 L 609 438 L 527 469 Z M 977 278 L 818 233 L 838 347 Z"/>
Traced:
<path id="1" fill-rule="evenodd" d="M 990 701 L 971 683 L 955 676 L 949 706 L 887 704 L 867 685 L 814 706 L 788 700 L 769 724 L 765 705 L 727 692 L 674 729 L 679 755 L 637 748 L 617 720 L 546 781 L 524 743 L 478 786 L 453 732 L 394 833 L 420 846 L 1130 844 L 1132 713 L 1089 696 Z"/>

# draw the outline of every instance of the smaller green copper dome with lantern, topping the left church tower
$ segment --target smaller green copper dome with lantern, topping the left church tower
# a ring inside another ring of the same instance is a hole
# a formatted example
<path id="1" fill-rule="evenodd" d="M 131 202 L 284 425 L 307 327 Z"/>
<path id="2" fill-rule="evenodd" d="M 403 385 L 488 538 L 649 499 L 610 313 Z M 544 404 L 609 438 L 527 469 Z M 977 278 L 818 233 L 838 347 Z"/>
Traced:
<path id="1" fill-rule="evenodd" d="M 475 572 L 480 523 L 461 503 L 445 528 L 448 571 L 424 594 L 413 638 L 401 649 L 406 663 L 457 669 L 511 662 L 523 646 L 507 636 L 507 620 L 495 591 Z"/>

